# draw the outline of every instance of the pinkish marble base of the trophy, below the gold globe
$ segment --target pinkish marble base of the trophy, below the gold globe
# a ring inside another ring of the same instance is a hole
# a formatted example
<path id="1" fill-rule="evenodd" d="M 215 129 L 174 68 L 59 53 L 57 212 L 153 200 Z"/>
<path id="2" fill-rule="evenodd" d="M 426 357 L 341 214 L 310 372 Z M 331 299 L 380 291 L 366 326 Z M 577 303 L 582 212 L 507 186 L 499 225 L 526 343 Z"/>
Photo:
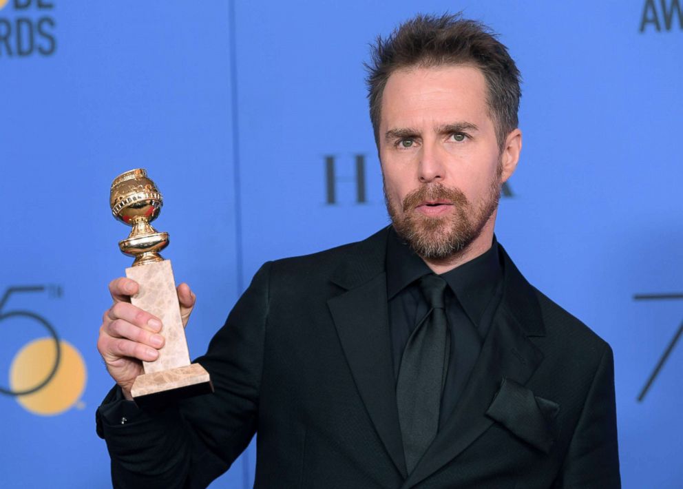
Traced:
<path id="1" fill-rule="evenodd" d="M 126 276 L 140 285 L 131 298 L 134 306 L 156 315 L 163 324 L 165 344 L 154 362 L 143 362 L 131 395 L 138 406 L 161 407 L 174 399 L 213 392 L 209 373 L 191 364 L 171 261 L 151 262 L 126 269 Z"/>

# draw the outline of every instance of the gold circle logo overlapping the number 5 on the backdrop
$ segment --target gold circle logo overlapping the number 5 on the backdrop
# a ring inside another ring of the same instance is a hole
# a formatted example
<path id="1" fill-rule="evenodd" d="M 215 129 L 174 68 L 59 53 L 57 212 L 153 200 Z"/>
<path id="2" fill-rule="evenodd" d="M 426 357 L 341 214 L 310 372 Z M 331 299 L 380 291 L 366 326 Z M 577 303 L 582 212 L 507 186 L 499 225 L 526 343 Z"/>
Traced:
<path id="1" fill-rule="evenodd" d="M 39 391 L 17 396 L 17 402 L 36 415 L 63 413 L 78 403 L 85 389 L 86 371 L 81 353 L 64 340 L 59 342 L 59 346 L 61 358 L 50 382 Z M 26 344 L 12 360 L 12 391 L 30 389 L 48 377 L 54 368 L 55 357 L 53 338 L 40 338 Z"/>

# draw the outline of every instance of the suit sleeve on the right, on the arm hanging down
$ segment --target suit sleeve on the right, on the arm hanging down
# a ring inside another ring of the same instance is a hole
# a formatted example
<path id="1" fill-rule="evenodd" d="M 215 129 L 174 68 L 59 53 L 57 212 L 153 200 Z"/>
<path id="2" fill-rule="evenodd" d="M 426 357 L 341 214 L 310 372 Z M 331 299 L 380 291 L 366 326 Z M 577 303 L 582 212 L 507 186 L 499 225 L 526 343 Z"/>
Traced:
<path id="1" fill-rule="evenodd" d="M 614 360 L 606 346 L 582 408 L 557 488 L 620 488 Z"/>

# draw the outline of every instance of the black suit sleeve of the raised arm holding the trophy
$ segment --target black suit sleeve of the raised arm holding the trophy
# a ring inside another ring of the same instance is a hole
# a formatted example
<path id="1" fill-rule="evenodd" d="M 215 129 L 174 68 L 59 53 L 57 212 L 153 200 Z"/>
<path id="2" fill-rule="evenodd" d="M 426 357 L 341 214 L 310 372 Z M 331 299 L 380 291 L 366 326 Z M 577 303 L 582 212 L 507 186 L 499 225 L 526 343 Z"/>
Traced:
<path id="1" fill-rule="evenodd" d="M 112 390 L 98 408 L 112 482 L 120 488 L 203 488 L 249 445 L 258 422 L 270 263 L 254 276 L 224 326 L 198 358 L 215 392 L 154 413 Z M 123 419 L 125 418 L 125 419 Z"/>

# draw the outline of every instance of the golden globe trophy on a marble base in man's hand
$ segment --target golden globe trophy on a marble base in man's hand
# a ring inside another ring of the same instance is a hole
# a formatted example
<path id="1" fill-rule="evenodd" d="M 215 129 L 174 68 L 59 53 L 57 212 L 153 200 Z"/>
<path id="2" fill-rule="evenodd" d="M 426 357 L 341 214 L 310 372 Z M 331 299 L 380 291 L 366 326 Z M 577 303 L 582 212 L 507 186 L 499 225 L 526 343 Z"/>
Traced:
<path id="1" fill-rule="evenodd" d="M 143 362 L 145 373 L 131 388 L 134 401 L 138 406 L 161 406 L 171 399 L 213 392 L 209 373 L 190 363 L 171 262 L 159 255 L 168 246 L 169 235 L 149 225 L 161 211 L 161 194 L 147 171 L 138 168 L 114 178 L 109 202 L 114 217 L 133 227 L 118 243 L 123 253 L 135 258 L 126 269 L 126 276 L 140 285 L 131 302 L 161 320 L 159 333 L 166 340 L 157 360 Z"/>

